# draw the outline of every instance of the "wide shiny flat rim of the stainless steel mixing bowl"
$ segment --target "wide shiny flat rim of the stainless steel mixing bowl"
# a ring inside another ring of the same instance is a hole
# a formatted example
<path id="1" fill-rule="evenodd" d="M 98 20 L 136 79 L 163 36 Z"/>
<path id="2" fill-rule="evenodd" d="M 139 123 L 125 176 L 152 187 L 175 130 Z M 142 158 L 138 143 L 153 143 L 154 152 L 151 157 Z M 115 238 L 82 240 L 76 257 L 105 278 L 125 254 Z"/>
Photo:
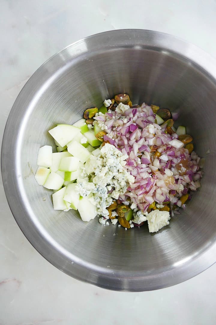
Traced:
<path id="1" fill-rule="evenodd" d="M 41 70 L 46 72 L 44 79 L 41 80 L 43 83 L 51 78 L 52 74 L 58 69 L 62 71 L 66 68 L 65 60 L 69 58 L 73 60 L 89 51 L 112 46 L 115 40 L 119 40 L 118 46 L 141 46 L 142 48 L 149 47 L 175 53 L 199 66 L 216 83 L 216 60 L 199 47 L 173 35 L 151 30 L 122 29 L 94 34 L 74 42 L 45 61 L 29 78 L 14 102 L 2 140 L 3 186 L 10 210 L 21 231 L 32 246 L 52 265 L 75 279 L 106 289 L 131 292 L 157 290 L 190 279 L 214 264 L 216 262 L 216 242 L 212 243 L 193 260 L 180 261 L 182 263 L 179 263 L 175 272 L 168 269 L 160 273 L 158 270 L 157 274 L 154 273 L 152 276 L 138 272 L 136 277 L 132 277 L 130 272 L 121 271 L 119 273 L 106 267 L 99 268 L 93 264 L 77 260 L 75 256 L 74 258 L 66 256 L 64 249 L 59 247 L 58 243 L 54 242 L 39 224 L 37 228 L 35 227 L 35 223 L 28 217 L 30 207 L 26 206 L 25 198 L 20 193 L 16 146 L 24 132 L 20 126 L 25 118 L 27 108 L 31 105 L 32 85 L 35 85 L 35 81 L 41 76 Z M 19 116 L 17 117 L 18 109 Z M 8 142 L 11 143 L 10 152 L 8 152 Z M 24 222 L 23 214 L 27 216 L 28 222 L 26 220 Z"/>

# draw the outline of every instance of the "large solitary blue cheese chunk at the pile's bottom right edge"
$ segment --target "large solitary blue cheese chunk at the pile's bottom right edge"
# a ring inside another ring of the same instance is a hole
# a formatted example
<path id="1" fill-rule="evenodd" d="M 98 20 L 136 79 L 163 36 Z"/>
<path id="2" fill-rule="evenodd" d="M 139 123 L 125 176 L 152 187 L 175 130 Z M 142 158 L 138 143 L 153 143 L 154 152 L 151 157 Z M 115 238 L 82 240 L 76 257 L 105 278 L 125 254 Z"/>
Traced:
<path id="1" fill-rule="evenodd" d="M 157 232 L 169 224 L 170 214 L 168 211 L 153 210 L 147 215 L 149 232 Z"/>

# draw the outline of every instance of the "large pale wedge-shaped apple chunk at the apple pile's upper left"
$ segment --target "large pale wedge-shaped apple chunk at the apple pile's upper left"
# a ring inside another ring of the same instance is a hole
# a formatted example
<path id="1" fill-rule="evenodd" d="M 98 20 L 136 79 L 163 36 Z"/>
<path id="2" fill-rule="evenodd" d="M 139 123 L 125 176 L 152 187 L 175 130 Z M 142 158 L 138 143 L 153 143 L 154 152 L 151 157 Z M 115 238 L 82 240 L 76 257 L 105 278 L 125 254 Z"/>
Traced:
<path id="1" fill-rule="evenodd" d="M 80 129 L 70 124 L 58 124 L 53 129 L 49 130 L 51 136 L 61 147 L 68 144 L 79 132 Z"/>

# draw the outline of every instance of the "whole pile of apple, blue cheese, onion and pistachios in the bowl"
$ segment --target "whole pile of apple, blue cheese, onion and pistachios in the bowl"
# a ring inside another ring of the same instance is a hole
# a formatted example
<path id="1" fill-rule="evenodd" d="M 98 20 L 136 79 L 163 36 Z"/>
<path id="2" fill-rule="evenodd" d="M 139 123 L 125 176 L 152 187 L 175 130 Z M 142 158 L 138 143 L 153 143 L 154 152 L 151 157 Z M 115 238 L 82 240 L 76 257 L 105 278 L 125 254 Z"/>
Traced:
<path id="1" fill-rule="evenodd" d="M 84 111 L 73 125 L 58 124 L 51 146 L 39 149 L 35 178 L 53 189 L 55 210 L 78 210 L 83 221 L 99 216 L 108 226 L 149 232 L 180 214 L 200 187 L 203 159 L 193 151 L 177 113 L 156 105 L 134 105 L 127 94 Z"/>

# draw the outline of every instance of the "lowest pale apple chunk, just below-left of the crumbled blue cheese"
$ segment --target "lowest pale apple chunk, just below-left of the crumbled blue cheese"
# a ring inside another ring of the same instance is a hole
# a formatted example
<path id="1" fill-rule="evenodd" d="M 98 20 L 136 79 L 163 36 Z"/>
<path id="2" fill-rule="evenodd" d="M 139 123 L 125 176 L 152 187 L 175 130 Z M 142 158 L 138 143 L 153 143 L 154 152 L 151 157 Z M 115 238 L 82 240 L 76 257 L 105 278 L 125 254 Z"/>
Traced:
<path id="1" fill-rule="evenodd" d="M 80 197 L 77 210 L 79 211 L 79 214 L 83 221 L 90 221 L 97 215 L 97 208 L 92 202 L 90 202 L 89 195 Z"/>

